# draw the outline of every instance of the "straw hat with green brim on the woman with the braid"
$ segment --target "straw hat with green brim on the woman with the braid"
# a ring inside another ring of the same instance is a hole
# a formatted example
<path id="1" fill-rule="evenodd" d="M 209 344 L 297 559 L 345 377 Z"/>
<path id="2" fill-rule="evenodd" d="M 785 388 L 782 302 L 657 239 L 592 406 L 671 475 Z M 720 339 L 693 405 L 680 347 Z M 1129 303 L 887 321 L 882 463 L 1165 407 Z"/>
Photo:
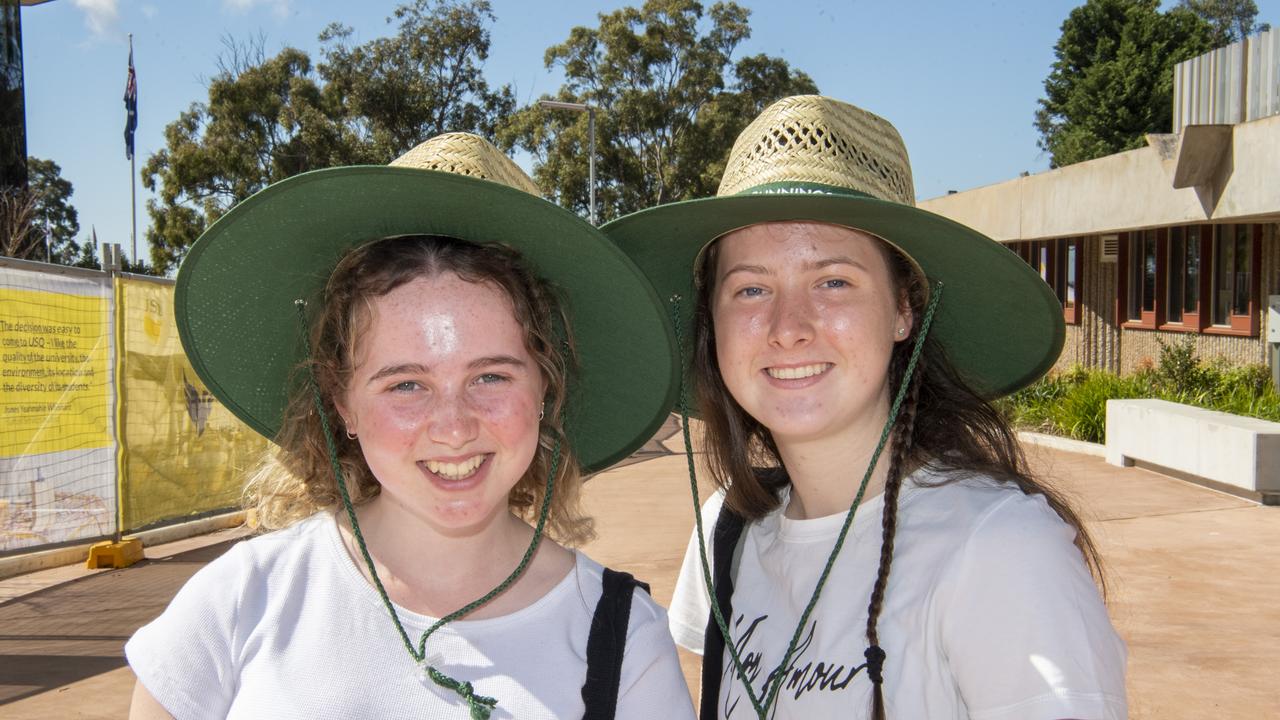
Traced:
<path id="1" fill-rule="evenodd" d="M 703 250 L 735 229 L 787 220 L 864 231 L 902 251 L 931 284 L 941 282 L 929 337 L 984 397 L 1030 384 L 1062 350 L 1062 305 L 1036 270 L 978 231 L 915 208 L 893 126 L 828 97 L 767 108 L 735 142 L 716 197 L 659 205 L 602 229 L 664 301 L 680 297 L 687 355 Z"/>

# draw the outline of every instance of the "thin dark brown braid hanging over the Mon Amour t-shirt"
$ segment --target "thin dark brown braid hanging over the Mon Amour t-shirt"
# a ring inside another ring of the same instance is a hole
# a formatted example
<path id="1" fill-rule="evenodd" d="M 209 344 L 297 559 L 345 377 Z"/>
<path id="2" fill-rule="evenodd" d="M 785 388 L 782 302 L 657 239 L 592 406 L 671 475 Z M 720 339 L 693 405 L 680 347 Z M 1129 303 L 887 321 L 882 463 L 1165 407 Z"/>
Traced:
<path id="1" fill-rule="evenodd" d="M 914 333 L 913 333 L 914 334 Z M 910 345 L 909 342 L 900 343 Z M 884 480 L 884 510 L 883 533 L 881 539 L 879 571 L 876 575 L 876 585 L 872 589 L 872 600 L 867 606 L 867 674 L 872 680 L 872 720 L 884 720 L 884 693 L 883 693 L 883 664 L 884 651 L 879 644 L 881 610 L 884 607 L 884 588 L 888 584 L 890 568 L 893 564 L 893 537 L 897 533 L 897 496 L 902 488 L 902 480 L 910 474 L 911 445 L 915 434 L 915 413 L 920 400 L 920 377 L 923 375 L 924 357 L 916 363 L 915 373 L 910 378 L 902 378 L 906 366 L 908 354 L 895 352 L 891 378 L 897 382 L 909 380 L 911 388 L 908 392 L 906 402 L 899 413 L 897 428 L 893 433 L 893 455 L 890 459 L 888 477 Z"/>

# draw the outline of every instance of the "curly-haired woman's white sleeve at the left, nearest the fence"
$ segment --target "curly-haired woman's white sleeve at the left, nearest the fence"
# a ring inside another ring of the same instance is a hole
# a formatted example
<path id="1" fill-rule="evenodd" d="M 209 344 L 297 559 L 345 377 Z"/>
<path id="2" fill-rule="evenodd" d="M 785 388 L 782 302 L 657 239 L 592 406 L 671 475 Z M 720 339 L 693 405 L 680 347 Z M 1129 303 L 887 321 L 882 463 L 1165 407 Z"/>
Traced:
<path id="1" fill-rule="evenodd" d="M 224 719 L 236 696 L 242 547 L 196 573 L 124 646 L 133 674 L 174 717 Z"/>

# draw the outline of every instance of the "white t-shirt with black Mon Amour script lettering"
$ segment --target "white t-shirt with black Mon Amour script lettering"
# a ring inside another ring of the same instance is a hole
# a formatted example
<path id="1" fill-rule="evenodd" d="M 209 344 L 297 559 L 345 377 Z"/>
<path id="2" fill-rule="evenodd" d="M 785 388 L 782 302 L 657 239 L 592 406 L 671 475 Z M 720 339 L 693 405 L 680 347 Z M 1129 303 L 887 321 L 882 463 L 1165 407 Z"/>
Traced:
<path id="1" fill-rule="evenodd" d="M 1107 618 L 1074 530 L 1042 496 L 970 478 L 899 497 L 893 564 L 879 616 L 890 719 L 1121 719 L 1125 646 Z M 703 507 L 708 560 L 723 496 Z M 783 500 L 782 507 L 786 506 Z M 772 719 L 867 717 L 867 605 L 879 566 L 883 496 L 858 509 Z M 760 694 L 782 661 L 847 512 L 790 520 L 776 510 L 744 530 L 735 574 L 735 647 Z M 714 571 L 714 570 L 713 570 Z M 690 542 L 671 603 L 676 642 L 701 653 L 708 600 Z M 724 651 L 719 717 L 754 717 Z"/>

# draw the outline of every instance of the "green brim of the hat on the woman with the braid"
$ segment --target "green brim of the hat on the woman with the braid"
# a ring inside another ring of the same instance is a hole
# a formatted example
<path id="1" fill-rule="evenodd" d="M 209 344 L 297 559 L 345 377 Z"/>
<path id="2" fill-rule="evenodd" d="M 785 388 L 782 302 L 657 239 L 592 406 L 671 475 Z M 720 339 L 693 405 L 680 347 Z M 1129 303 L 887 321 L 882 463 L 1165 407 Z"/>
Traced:
<path id="1" fill-rule="evenodd" d="M 703 249 L 756 223 L 810 220 L 884 238 L 909 255 L 931 283 L 943 283 L 929 336 L 979 395 L 1007 395 L 1053 366 L 1065 338 L 1062 305 L 1018 255 L 941 215 L 831 190 L 672 202 L 618 218 L 602 229 L 640 265 L 664 301 L 684 299 L 686 355 L 691 354 L 695 263 Z"/>

